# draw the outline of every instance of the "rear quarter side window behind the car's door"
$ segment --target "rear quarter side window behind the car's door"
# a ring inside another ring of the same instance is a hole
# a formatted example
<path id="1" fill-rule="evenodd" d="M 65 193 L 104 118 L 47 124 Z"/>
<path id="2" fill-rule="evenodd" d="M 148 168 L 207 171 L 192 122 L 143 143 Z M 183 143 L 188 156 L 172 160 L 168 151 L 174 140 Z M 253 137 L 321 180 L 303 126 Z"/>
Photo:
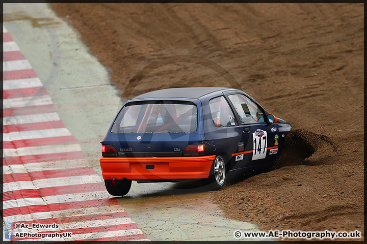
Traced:
<path id="1" fill-rule="evenodd" d="M 215 127 L 229 127 L 237 125 L 233 112 L 223 96 L 210 100 L 209 106 Z"/>

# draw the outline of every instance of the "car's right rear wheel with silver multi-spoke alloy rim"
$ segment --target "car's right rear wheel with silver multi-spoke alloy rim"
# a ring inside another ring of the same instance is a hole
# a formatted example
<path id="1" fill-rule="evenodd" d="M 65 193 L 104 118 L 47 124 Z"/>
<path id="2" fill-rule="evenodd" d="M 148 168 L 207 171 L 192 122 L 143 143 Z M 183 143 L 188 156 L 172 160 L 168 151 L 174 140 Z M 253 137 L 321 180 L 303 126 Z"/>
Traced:
<path id="1" fill-rule="evenodd" d="M 209 178 L 205 180 L 209 190 L 221 189 L 227 181 L 226 162 L 224 158 L 218 155 L 212 165 Z"/>

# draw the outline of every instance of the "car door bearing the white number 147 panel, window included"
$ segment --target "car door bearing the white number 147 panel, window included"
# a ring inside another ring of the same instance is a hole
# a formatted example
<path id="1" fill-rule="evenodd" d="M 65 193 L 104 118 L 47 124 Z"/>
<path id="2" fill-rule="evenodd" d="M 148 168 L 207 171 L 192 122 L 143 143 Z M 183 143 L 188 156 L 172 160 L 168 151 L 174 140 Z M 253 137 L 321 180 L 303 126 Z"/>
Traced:
<path id="1" fill-rule="evenodd" d="M 242 128 L 243 154 L 236 168 L 260 165 L 274 161 L 276 126 L 267 123 L 266 111 L 244 94 L 227 94 L 238 123 Z M 243 155 L 243 156 L 242 156 Z"/>

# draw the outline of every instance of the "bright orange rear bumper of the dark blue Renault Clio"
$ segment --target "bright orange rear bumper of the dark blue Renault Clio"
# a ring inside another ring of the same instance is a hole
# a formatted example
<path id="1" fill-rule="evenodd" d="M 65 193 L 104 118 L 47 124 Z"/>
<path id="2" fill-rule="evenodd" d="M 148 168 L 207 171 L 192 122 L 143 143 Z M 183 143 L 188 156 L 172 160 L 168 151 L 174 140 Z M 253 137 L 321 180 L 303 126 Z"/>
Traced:
<path id="1" fill-rule="evenodd" d="M 99 162 L 103 179 L 202 179 L 209 177 L 214 159 L 215 155 L 160 158 L 101 157 Z M 151 165 L 154 166 L 153 169 Z"/>

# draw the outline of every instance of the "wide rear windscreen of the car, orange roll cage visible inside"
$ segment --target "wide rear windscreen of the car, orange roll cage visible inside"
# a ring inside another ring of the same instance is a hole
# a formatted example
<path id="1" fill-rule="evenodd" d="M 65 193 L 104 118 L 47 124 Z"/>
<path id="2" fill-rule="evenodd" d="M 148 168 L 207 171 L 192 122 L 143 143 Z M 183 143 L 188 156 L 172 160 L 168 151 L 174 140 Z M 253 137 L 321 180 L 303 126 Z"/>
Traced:
<path id="1" fill-rule="evenodd" d="M 112 133 L 182 133 L 197 129 L 194 103 L 155 101 L 125 105 L 112 126 Z"/>

